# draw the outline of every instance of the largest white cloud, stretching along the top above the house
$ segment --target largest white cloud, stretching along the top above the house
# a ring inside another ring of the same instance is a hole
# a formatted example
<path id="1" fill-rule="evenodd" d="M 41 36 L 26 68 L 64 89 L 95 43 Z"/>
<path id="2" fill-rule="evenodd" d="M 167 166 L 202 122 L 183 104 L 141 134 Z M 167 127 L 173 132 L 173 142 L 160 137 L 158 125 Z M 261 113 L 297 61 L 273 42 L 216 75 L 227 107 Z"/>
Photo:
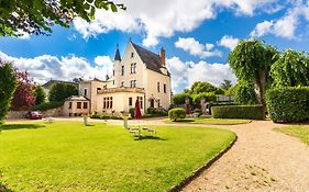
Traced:
<path id="1" fill-rule="evenodd" d="M 190 32 L 201 22 L 213 19 L 222 9 L 231 9 L 236 14 L 253 15 L 256 9 L 276 3 L 278 0 L 117 0 L 124 3 L 126 11 L 117 13 L 98 10 L 96 19 L 87 23 L 74 21 L 75 29 L 85 38 L 111 30 L 135 32 L 144 35 L 143 45 L 154 46 L 159 37 L 170 37 L 175 32 Z"/>

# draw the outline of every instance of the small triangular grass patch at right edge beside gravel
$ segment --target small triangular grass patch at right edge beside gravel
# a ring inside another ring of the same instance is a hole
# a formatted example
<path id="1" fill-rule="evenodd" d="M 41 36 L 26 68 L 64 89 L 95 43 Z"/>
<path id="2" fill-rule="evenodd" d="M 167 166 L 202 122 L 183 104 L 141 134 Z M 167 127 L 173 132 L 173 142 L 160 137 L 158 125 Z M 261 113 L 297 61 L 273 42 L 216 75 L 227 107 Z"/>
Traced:
<path id="1" fill-rule="evenodd" d="M 298 137 L 301 142 L 309 145 L 309 125 L 293 125 L 275 129 L 287 135 Z"/>

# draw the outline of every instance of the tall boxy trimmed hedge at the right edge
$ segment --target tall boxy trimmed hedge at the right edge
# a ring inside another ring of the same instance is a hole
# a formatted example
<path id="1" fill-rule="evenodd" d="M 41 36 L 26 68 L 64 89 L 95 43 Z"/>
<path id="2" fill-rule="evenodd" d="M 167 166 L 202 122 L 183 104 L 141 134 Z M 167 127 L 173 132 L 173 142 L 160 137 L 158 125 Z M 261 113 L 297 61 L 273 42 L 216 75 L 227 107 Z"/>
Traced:
<path id="1" fill-rule="evenodd" d="M 309 87 L 269 89 L 266 101 L 273 122 L 309 121 Z"/>

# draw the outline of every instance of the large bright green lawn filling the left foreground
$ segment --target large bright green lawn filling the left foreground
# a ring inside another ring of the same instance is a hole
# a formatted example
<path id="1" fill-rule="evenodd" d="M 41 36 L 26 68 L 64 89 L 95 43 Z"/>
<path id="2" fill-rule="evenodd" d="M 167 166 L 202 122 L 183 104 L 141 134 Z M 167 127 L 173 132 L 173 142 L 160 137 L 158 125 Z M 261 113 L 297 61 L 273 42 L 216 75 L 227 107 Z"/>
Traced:
<path id="1" fill-rule="evenodd" d="M 155 128 L 157 137 L 134 140 L 102 123 L 3 125 L 0 191 L 166 191 L 235 138 L 207 127 Z"/>

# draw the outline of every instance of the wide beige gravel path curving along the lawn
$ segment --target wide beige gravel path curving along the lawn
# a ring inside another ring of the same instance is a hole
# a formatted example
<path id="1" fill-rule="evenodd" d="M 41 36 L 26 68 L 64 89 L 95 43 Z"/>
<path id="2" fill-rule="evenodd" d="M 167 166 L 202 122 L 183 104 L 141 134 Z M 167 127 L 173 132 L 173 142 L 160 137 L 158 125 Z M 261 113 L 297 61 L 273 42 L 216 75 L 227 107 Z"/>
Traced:
<path id="1" fill-rule="evenodd" d="M 271 121 L 227 126 L 235 145 L 183 191 L 309 192 L 309 146 Z M 225 126 L 224 126 L 225 127 Z"/>

